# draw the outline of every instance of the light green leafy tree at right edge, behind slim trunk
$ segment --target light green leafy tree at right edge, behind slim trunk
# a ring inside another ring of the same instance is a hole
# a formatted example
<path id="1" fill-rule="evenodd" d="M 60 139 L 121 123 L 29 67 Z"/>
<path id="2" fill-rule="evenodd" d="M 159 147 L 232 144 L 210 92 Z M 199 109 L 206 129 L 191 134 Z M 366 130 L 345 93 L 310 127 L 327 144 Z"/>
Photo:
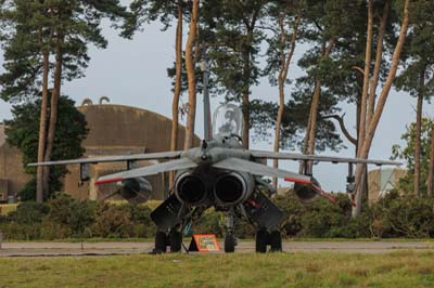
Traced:
<path id="1" fill-rule="evenodd" d="M 426 192 L 426 180 L 430 167 L 430 155 L 431 155 L 431 129 L 433 121 L 429 118 L 422 119 L 421 127 L 421 182 L 420 188 Z M 404 191 L 413 191 L 414 185 L 414 141 L 416 141 L 416 123 L 411 123 L 406 128 L 406 132 L 401 135 L 401 140 L 405 141 L 405 146 L 401 147 L 395 144 L 392 147 L 393 158 L 405 159 L 407 162 L 407 174 L 399 180 L 399 187 Z"/>

